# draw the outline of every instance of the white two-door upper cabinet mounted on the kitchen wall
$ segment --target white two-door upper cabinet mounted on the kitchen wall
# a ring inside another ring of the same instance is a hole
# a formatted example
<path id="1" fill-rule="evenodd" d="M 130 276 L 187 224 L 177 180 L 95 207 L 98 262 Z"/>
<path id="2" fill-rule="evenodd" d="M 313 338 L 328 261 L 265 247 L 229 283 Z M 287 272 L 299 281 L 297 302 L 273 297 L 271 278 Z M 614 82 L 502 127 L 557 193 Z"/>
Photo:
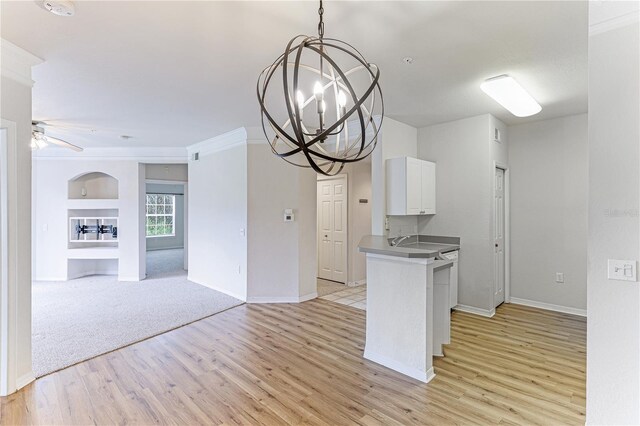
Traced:
<path id="1" fill-rule="evenodd" d="M 399 157 L 386 168 L 388 215 L 436 214 L 436 163 Z"/>

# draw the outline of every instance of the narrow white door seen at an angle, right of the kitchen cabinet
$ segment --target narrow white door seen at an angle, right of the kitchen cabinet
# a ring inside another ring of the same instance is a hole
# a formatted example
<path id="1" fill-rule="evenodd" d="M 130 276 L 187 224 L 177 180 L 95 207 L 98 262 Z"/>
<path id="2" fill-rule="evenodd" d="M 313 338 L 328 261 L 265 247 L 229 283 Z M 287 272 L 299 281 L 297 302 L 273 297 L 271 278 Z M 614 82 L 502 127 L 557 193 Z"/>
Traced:
<path id="1" fill-rule="evenodd" d="M 494 189 L 494 307 L 504 302 L 504 278 L 505 278 L 505 253 L 504 253 L 504 231 L 505 231 L 505 206 L 504 206 L 504 170 L 495 170 Z"/>

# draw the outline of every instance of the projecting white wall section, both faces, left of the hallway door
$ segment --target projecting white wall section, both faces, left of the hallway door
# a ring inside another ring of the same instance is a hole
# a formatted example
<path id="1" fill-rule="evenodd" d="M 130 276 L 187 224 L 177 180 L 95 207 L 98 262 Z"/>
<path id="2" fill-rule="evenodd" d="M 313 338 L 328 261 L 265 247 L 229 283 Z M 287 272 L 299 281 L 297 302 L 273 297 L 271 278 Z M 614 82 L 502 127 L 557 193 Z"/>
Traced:
<path id="1" fill-rule="evenodd" d="M 257 128 L 188 151 L 200 156 L 189 163 L 189 279 L 255 303 L 315 297 L 315 173 L 275 157 Z"/>

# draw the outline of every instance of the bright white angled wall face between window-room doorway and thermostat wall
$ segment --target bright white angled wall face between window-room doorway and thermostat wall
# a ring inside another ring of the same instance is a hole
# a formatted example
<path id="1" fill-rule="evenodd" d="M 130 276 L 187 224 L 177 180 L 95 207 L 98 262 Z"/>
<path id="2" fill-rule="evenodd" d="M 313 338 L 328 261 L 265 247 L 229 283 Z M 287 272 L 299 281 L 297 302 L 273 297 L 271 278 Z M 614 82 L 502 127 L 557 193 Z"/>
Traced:
<path id="1" fill-rule="evenodd" d="M 189 280 L 247 299 L 247 146 L 189 162 Z"/>

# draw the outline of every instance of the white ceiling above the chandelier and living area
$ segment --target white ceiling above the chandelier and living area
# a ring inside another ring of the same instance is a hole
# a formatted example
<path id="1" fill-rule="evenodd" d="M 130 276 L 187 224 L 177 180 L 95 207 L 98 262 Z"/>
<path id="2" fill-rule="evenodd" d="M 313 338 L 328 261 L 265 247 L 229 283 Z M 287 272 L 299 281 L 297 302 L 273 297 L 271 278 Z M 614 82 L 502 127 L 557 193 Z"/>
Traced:
<path id="1" fill-rule="evenodd" d="M 84 147 L 186 146 L 259 125 L 258 74 L 317 25 L 305 1 L 86 1 L 71 18 L 35 1 L 0 4 L 2 38 L 46 61 L 34 68 L 34 119 Z M 587 8 L 331 1 L 325 31 L 380 67 L 389 117 L 420 127 L 488 112 L 516 124 L 587 110 Z M 480 90 L 505 73 L 541 113 L 516 118 Z"/>

